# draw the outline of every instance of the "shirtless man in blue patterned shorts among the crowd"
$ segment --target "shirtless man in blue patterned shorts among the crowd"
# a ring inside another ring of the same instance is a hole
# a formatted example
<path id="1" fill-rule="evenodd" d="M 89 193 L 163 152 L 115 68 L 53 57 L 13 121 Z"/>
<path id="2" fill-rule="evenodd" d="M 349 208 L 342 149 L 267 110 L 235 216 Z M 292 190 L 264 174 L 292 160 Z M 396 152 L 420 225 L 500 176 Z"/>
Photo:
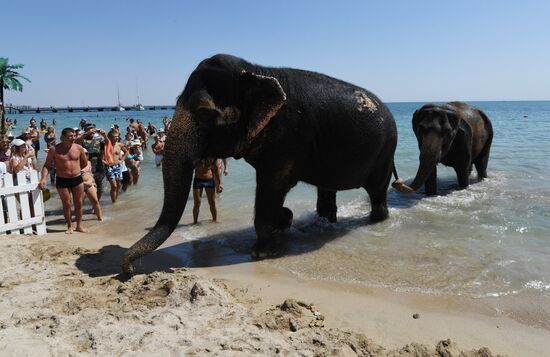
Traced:
<path id="1" fill-rule="evenodd" d="M 120 142 L 120 133 L 111 129 L 109 138 L 105 142 L 105 154 L 103 163 L 105 164 L 105 176 L 111 184 L 111 201 L 115 203 L 118 199 L 118 193 L 122 188 L 122 160 L 127 155 L 127 149 Z"/>

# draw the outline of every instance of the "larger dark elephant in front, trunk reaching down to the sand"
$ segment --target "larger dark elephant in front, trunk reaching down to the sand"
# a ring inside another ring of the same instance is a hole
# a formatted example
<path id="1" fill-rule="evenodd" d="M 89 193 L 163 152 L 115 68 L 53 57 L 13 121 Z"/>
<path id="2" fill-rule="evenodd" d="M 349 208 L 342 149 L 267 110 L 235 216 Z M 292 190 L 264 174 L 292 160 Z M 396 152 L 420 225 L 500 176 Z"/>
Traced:
<path id="1" fill-rule="evenodd" d="M 160 218 L 124 256 L 160 246 L 178 224 L 201 158 L 244 158 L 256 169 L 254 257 L 276 252 L 290 227 L 285 196 L 298 181 L 317 186 L 317 213 L 336 221 L 336 191 L 363 187 L 370 219 L 388 217 L 395 121 L 371 92 L 323 74 L 263 67 L 229 55 L 203 60 L 179 96 L 163 159 Z"/>

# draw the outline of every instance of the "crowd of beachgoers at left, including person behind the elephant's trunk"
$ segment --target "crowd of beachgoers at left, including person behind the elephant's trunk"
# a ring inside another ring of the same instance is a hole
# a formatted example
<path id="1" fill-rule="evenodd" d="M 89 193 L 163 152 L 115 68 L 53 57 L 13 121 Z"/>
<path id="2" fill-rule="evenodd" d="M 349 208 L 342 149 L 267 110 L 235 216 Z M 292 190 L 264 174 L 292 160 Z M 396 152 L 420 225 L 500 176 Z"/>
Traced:
<path id="1" fill-rule="evenodd" d="M 138 184 L 143 152 L 147 149 L 149 137 L 154 139 L 151 151 L 155 165 L 162 165 L 170 120 L 165 117 L 164 127 L 161 129 L 150 122 L 144 126 L 141 120 L 128 118 L 127 121 L 126 131 L 122 133 L 117 124 L 111 125 L 106 132 L 97 128 L 94 123 L 82 119 L 79 127 L 63 129 L 58 138 L 54 122 L 48 126 L 46 120 L 42 119 L 38 129 L 33 117 L 21 135 L 0 141 L 0 171 L 12 174 L 25 172 L 30 180 L 30 172 L 38 169 L 40 137 L 43 134 L 47 156 L 38 186 L 45 189 L 49 177 L 51 185 L 57 188 L 67 222 L 66 233 L 73 232 L 73 204 L 76 217 L 74 230 L 86 232 L 82 226 L 84 199 L 89 199 L 97 219 L 103 220 L 100 200 L 104 186 L 107 183 L 110 186 L 111 202 L 115 203 L 121 192 Z M 206 191 L 212 219 L 217 221 L 215 194 L 223 191 L 222 173 L 227 175 L 228 172 L 226 159 L 204 159 L 197 163 L 193 181 L 194 223 L 198 222 L 203 191 Z"/>

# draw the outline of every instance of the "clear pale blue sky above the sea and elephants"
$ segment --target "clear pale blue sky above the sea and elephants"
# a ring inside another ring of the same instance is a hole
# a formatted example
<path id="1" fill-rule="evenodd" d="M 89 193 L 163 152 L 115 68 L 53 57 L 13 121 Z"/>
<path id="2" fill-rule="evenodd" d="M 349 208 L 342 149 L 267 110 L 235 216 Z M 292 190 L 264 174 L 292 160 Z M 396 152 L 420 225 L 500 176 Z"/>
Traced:
<path id="1" fill-rule="evenodd" d="M 6 1 L 28 105 L 173 104 L 204 58 L 317 71 L 387 102 L 549 100 L 550 1 Z"/>

